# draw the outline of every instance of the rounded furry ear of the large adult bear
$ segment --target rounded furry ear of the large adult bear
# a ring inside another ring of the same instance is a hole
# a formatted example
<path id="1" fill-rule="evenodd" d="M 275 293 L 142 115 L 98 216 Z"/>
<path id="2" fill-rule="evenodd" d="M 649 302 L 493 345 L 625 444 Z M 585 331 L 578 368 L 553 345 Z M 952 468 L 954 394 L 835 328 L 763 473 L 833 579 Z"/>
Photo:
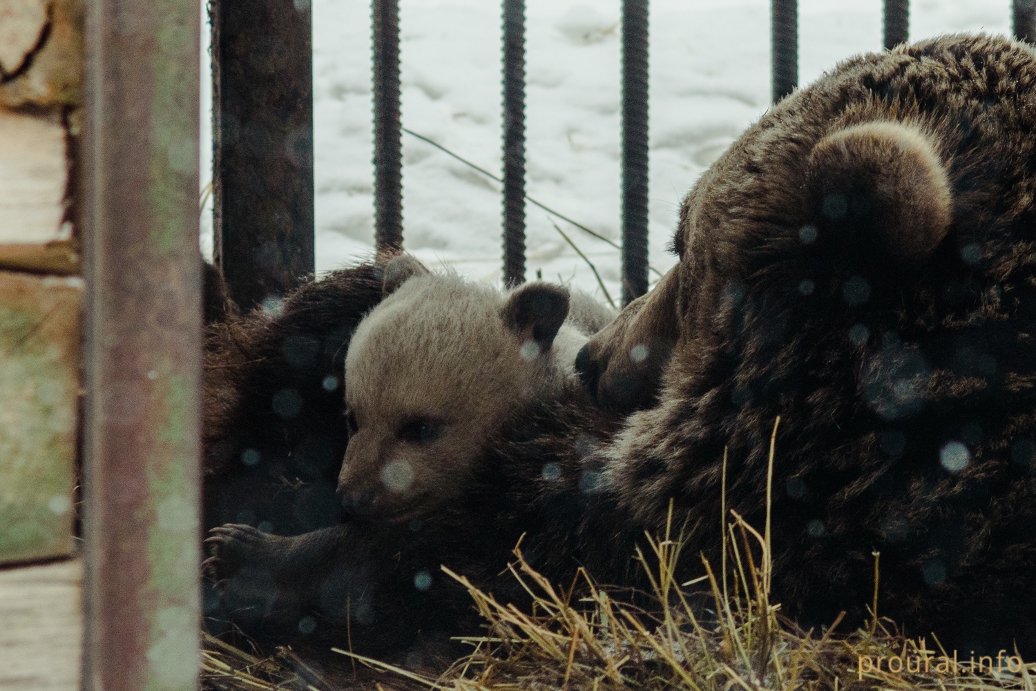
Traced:
<path id="1" fill-rule="evenodd" d="M 870 244 L 876 237 L 893 257 L 919 259 L 942 241 L 952 220 L 939 154 L 921 131 L 899 122 L 867 122 L 822 139 L 809 154 L 807 185 L 827 241 L 841 234 L 855 235 L 854 246 Z"/>

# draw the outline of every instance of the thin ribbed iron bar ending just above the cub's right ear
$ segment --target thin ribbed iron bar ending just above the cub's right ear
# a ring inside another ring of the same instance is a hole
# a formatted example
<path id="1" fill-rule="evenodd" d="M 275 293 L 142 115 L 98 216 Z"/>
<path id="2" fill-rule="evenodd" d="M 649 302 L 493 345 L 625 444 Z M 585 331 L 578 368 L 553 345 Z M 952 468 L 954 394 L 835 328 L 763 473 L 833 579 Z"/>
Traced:
<path id="1" fill-rule="evenodd" d="M 525 0 L 503 0 L 503 283 L 525 281 Z"/>

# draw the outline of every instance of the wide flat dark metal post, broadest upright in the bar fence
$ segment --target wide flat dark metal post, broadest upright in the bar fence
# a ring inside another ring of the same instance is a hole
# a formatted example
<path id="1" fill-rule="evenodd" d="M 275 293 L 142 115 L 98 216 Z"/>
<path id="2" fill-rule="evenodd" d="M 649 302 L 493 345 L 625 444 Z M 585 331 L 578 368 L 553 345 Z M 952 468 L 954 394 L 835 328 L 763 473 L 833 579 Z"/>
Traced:
<path id="1" fill-rule="evenodd" d="M 214 254 L 243 309 L 312 273 L 310 0 L 211 0 Z"/>

